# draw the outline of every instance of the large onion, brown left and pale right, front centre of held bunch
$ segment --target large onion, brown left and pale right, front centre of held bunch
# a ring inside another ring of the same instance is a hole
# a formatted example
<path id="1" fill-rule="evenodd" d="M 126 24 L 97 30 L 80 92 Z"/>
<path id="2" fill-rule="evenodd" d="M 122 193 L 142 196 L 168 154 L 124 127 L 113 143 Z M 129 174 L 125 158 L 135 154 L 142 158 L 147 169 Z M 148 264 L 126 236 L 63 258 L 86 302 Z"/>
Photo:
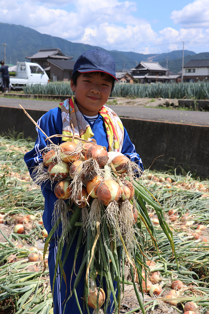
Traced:
<path id="1" fill-rule="evenodd" d="M 104 180 L 98 185 L 96 195 L 104 206 L 108 206 L 112 201 L 118 202 L 121 197 L 121 187 L 113 180 Z"/>

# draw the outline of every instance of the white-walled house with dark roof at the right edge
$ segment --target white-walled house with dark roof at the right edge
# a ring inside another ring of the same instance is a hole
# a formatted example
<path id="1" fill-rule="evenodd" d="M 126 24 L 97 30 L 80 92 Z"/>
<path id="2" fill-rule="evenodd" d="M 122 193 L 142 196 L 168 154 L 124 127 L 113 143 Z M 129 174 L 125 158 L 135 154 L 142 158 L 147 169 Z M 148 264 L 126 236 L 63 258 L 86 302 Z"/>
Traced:
<path id="1" fill-rule="evenodd" d="M 189 60 L 183 66 L 183 81 L 209 80 L 209 59 Z"/>

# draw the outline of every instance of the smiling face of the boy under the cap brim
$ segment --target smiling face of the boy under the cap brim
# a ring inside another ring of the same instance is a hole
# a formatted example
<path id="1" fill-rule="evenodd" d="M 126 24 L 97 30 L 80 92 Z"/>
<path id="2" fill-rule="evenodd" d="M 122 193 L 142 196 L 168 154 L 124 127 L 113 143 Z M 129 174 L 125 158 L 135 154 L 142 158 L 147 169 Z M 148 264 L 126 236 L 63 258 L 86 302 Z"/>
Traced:
<path id="1" fill-rule="evenodd" d="M 102 77 L 100 72 L 82 73 L 76 86 L 71 80 L 71 89 L 75 91 L 78 109 L 86 116 L 95 116 L 99 109 L 107 102 L 112 88 L 109 74 Z"/>

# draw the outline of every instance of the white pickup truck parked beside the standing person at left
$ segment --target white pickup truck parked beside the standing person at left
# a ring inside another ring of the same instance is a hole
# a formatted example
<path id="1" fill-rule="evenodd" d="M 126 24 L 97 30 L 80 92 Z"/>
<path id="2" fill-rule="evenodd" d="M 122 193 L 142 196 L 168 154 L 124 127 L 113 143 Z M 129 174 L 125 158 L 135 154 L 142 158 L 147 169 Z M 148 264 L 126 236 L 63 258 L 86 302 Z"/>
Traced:
<path id="1" fill-rule="evenodd" d="M 47 84 L 49 77 L 38 63 L 18 62 L 15 77 L 10 77 L 10 87 L 20 90 L 25 85 Z M 2 89 L 2 77 L 0 77 L 0 89 Z"/>

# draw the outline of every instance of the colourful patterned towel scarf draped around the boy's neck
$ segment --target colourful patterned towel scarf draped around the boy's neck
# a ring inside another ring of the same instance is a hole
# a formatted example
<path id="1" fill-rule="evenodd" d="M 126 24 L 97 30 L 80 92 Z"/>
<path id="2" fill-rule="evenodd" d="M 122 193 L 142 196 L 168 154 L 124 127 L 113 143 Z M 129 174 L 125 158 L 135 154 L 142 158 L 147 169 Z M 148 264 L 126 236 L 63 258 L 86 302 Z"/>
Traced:
<path id="1" fill-rule="evenodd" d="M 60 103 L 62 111 L 62 134 L 73 135 L 71 123 L 75 129 L 75 136 L 89 140 L 94 133 L 89 123 L 85 120 L 82 113 L 75 103 L 74 97 L 68 98 L 64 103 Z M 104 125 L 107 133 L 108 152 L 121 152 L 124 140 L 124 127 L 117 114 L 105 105 L 98 112 L 104 119 Z M 69 137 L 62 137 L 63 141 L 71 141 Z"/>

